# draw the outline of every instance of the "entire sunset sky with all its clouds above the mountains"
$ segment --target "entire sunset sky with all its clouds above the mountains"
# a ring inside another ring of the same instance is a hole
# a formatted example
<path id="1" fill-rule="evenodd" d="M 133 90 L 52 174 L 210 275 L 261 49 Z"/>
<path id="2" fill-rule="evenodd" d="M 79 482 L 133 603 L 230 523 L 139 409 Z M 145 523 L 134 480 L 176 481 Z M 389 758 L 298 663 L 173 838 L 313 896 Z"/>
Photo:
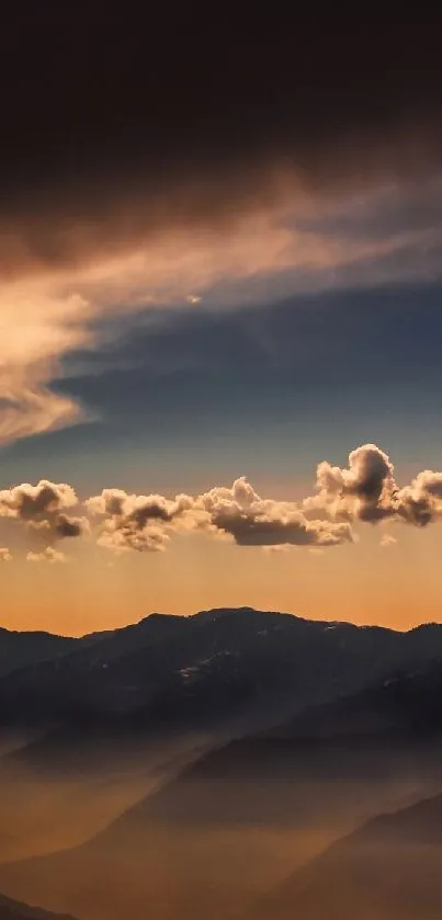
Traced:
<path id="1" fill-rule="evenodd" d="M 437 26 L 9 18 L 4 626 L 442 621 Z"/>

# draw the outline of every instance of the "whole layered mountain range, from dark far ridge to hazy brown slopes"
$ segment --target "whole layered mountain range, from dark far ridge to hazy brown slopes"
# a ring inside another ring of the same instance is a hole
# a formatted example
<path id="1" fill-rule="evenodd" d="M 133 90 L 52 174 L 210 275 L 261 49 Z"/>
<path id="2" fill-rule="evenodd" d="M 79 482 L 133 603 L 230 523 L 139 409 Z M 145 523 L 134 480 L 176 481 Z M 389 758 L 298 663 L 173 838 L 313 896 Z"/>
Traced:
<path id="1" fill-rule="evenodd" d="M 5 775 L 68 788 L 124 754 L 133 782 L 154 748 L 170 769 L 80 843 L 0 864 L 8 895 L 81 920 L 440 920 L 441 626 L 242 607 L 69 641 L 0 678 L 2 731 L 36 734 Z"/>

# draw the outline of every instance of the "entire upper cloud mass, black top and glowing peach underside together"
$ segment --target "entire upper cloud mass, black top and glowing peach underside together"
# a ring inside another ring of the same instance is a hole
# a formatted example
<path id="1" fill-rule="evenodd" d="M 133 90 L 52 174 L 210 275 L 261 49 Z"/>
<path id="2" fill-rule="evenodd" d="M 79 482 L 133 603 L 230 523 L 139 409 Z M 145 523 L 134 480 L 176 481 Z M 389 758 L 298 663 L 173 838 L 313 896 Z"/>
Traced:
<path id="1" fill-rule="evenodd" d="M 427 15 L 184 18 L 146 53 L 68 7 L 12 12 L 0 60 L 0 444 L 87 417 L 54 381 L 110 317 L 440 277 Z"/>

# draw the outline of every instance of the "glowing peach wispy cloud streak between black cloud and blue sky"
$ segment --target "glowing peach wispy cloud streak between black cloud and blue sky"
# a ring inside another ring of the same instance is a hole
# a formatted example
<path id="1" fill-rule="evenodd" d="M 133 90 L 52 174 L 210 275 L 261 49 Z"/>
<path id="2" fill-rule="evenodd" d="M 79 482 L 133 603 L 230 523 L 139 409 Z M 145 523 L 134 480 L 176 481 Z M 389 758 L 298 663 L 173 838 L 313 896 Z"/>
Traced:
<path id="1" fill-rule="evenodd" d="M 387 183 L 364 194 L 353 186 L 319 194 L 284 174 L 269 189 L 264 201 L 239 203 L 230 218 L 174 218 L 157 229 L 137 219 L 131 234 L 126 215 L 120 245 L 116 215 L 109 247 L 105 226 L 97 238 L 84 230 L 87 254 L 73 242 L 70 252 L 68 242 L 61 264 L 35 262 L 24 249 L 20 282 L 0 276 L 0 444 L 83 417 L 87 407 L 52 382 L 63 376 L 67 354 L 100 347 L 103 318 L 159 306 L 222 309 L 442 273 L 438 179 L 420 192 Z"/>

